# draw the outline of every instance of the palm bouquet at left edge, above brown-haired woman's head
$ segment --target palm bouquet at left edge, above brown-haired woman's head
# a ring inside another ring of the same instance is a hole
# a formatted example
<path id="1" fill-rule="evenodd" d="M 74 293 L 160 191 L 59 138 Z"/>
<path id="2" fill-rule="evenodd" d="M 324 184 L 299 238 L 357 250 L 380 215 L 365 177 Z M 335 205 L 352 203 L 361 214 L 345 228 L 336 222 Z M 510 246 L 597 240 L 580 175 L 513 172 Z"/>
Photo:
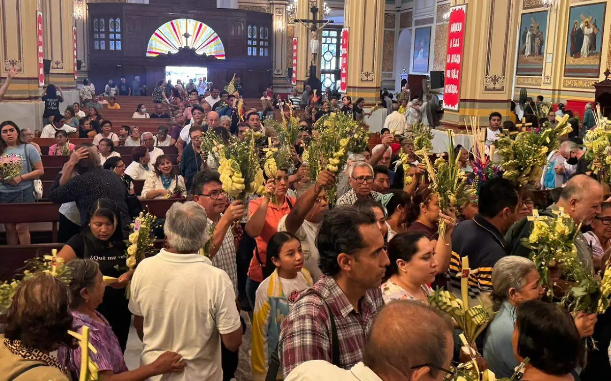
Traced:
<path id="1" fill-rule="evenodd" d="M 15 291 L 19 283 L 23 280 L 34 277 L 36 274 L 45 273 L 53 275 L 66 285 L 70 283 L 70 267 L 63 266 L 64 259 L 57 256 L 57 249 L 51 250 L 51 255 L 44 255 L 34 259 L 29 259 L 24 264 L 26 270 L 23 275 L 10 281 L 0 282 L 0 315 L 5 314 L 13 300 Z"/>

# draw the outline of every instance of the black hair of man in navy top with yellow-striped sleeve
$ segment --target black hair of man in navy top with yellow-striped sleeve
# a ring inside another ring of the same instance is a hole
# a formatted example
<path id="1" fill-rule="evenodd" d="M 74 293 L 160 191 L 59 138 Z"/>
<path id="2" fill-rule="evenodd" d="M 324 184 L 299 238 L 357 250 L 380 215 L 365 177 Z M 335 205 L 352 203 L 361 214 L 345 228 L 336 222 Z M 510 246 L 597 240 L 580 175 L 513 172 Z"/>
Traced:
<path id="1" fill-rule="evenodd" d="M 505 178 L 492 178 L 482 184 L 478 202 L 479 214 L 494 218 L 505 208 L 514 210 L 519 196 L 516 187 Z"/>

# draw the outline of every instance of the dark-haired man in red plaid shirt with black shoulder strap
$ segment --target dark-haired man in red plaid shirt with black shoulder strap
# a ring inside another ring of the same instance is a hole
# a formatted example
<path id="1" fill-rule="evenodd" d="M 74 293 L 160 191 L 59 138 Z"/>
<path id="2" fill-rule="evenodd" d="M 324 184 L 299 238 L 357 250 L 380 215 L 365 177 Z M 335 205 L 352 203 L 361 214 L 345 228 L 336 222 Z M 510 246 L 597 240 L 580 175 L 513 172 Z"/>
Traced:
<path id="1" fill-rule="evenodd" d="M 305 361 L 332 362 L 329 312 L 339 344 L 334 365 L 348 369 L 359 363 L 373 318 L 384 304 L 379 286 L 389 259 L 371 212 L 354 206 L 326 212 L 316 247 L 323 275 L 301 293 L 282 322 L 278 352 L 285 377 Z"/>

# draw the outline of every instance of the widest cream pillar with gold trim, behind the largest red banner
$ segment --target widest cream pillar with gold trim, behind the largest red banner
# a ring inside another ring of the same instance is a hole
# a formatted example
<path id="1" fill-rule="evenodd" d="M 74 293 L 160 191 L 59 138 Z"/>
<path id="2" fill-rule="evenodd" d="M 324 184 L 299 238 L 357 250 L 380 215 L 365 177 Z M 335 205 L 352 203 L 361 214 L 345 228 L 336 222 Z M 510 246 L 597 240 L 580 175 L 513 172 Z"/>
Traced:
<path id="1" fill-rule="evenodd" d="M 467 4 L 463 70 L 458 111 L 446 109 L 442 125 L 463 127 L 473 115 L 486 126 L 493 111 L 509 117 L 520 2 L 452 0 Z"/>

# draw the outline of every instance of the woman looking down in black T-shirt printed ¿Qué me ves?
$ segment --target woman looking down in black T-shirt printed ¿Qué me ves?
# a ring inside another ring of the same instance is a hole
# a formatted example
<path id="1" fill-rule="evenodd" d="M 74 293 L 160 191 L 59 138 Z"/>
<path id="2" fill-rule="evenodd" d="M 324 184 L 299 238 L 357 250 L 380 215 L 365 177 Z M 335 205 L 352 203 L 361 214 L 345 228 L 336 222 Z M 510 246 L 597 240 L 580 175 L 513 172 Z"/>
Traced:
<path id="1" fill-rule="evenodd" d="M 126 247 L 121 227 L 121 216 L 115 201 L 101 198 L 91 206 L 81 233 L 70 238 L 57 256 L 64 259 L 65 263 L 76 258 L 93 259 L 100 265 L 103 275 L 117 278 L 104 291 L 104 301 L 98 305 L 97 311 L 106 317 L 119 339 L 122 351 L 125 351 L 131 324 L 125 286 L 134 271 L 122 270 L 126 267 Z"/>

